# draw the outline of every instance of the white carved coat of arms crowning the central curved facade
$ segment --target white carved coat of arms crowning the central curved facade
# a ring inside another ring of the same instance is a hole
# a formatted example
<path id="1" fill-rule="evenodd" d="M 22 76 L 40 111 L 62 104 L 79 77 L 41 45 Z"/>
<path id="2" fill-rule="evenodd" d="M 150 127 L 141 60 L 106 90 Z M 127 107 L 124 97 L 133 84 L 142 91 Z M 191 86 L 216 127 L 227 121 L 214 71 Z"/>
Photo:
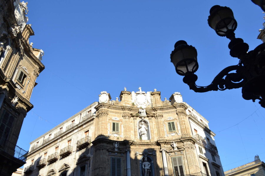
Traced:
<path id="1" fill-rule="evenodd" d="M 138 108 L 146 108 L 146 106 L 151 104 L 150 92 L 145 94 L 141 87 L 138 89 L 139 91 L 136 93 L 132 91 L 132 103 L 136 104 Z"/>

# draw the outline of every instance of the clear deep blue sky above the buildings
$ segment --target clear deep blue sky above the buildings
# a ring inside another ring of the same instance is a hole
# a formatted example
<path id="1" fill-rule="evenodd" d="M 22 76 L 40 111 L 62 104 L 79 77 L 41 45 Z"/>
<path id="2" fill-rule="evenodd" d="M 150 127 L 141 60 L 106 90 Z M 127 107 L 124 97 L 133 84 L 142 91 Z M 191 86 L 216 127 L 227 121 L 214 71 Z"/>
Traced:
<path id="1" fill-rule="evenodd" d="M 45 70 L 37 78 L 34 108 L 24 119 L 17 145 L 28 150 L 29 142 L 98 101 L 100 91 L 115 99 L 124 87 L 142 87 L 161 91 L 162 100 L 180 92 L 210 121 L 224 170 L 251 162 L 256 154 L 265 160 L 265 109 L 244 100 L 241 89 L 195 93 L 170 63 L 175 42 L 185 40 L 198 52 L 198 85 L 210 84 L 223 68 L 238 64 L 229 55 L 229 40 L 208 26 L 209 10 L 216 4 L 233 10 L 236 37 L 250 50 L 261 44 L 256 38 L 263 14 L 250 0 L 28 0 L 28 24 L 35 32 L 29 42 L 44 50 Z"/>

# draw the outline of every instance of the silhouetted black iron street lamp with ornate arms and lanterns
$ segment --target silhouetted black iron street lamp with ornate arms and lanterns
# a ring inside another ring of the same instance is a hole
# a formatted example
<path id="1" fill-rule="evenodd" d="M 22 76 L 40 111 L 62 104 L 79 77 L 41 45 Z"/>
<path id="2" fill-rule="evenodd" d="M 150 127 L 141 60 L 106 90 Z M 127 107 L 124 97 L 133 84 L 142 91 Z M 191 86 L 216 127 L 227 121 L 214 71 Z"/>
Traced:
<path id="1" fill-rule="evenodd" d="M 265 43 L 248 52 L 249 45 L 244 43 L 243 39 L 235 37 L 234 31 L 237 22 L 233 16 L 233 11 L 228 7 L 213 6 L 210 9 L 208 24 L 216 31 L 217 35 L 226 36 L 231 40 L 228 48 L 230 55 L 239 59 L 238 65 L 223 69 L 210 85 L 197 86 L 195 82 L 198 77 L 194 74 L 198 70 L 197 50 L 184 40 L 179 40 L 175 43 L 175 49 L 170 54 L 176 72 L 184 76 L 183 82 L 195 92 L 242 87 L 244 99 L 252 99 L 253 101 L 258 99 L 259 104 L 265 108 Z"/>

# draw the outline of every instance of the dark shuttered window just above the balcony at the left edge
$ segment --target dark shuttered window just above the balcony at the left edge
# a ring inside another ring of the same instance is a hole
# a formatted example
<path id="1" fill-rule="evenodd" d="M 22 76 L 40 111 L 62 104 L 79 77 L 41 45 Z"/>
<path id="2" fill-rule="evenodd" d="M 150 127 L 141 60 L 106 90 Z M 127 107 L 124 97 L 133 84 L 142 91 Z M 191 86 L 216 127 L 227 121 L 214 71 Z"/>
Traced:
<path id="1" fill-rule="evenodd" d="M 11 131 L 11 128 L 14 122 L 14 116 L 12 116 L 6 110 L 3 110 L 1 119 L 2 121 L 0 123 L 0 145 L 4 145 Z"/>

